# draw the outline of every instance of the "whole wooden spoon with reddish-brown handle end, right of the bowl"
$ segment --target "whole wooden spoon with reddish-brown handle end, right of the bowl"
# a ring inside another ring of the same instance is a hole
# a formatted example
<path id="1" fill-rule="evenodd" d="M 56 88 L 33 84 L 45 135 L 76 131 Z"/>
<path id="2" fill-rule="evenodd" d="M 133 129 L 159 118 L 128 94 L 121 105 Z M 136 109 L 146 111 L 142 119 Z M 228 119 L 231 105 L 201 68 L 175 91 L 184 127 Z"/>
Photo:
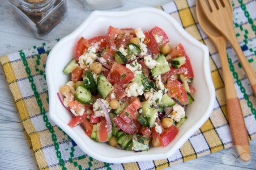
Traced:
<path id="1" fill-rule="evenodd" d="M 217 48 L 222 64 L 223 79 L 226 91 L 226 105 L 231 135 L 240 158 L 247 162 L 250 160 L 250 144 L 243 119 L 243 112 L 237 97 L 233 79 L 230 73 L 226 56 L 226 39 L 207 20 L 198 1 L 196 2 L 196 16 L 201 28 L 208 35 Z"/>

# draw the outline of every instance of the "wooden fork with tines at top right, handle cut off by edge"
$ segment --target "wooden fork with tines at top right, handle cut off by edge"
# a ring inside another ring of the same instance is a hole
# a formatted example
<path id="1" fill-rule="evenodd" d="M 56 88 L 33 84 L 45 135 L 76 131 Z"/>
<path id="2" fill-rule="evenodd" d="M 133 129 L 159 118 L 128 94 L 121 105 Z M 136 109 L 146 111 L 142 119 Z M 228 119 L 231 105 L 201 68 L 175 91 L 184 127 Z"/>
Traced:
<path id="1" fill-rule="evenodd" d="M 218 29 L 235 50 L 235 53 L 243 66 L 243 70 L 251 83 L 253 94 L 256 96 L 256 73 L 244 56 L 235 36 L 233 12 L 228 4 L 228 0 L 198 0 L 198 2 L 209 22 Z"/>

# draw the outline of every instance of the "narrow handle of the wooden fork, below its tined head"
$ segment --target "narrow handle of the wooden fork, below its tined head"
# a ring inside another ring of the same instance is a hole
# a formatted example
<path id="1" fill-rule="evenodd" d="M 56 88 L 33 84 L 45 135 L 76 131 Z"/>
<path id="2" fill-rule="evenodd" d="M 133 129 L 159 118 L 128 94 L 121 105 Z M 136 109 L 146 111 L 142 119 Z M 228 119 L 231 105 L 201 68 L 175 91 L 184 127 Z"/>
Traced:
<path id="1" fill-rule="evenodd" d="M 237 54 L 237 57 L 239 58 L 239 61 L 243 66 L 243 70 L 244 70 L 245 74 L 247 75 L 249 82 L 251 83 L 253 94 L 256 96 L 256 73 L 253 70 L 251 64 L 248 62 L 248 60 L 244 56 L 243 51 L 239 45 L 239 42 L 238 42 L 237 38 L 235 37 L 235 34 L 234 34 L 234 36 L 230 37 L 229 42 L 230 42 L 230 45 L 235 50 L 235 53 Z"/>

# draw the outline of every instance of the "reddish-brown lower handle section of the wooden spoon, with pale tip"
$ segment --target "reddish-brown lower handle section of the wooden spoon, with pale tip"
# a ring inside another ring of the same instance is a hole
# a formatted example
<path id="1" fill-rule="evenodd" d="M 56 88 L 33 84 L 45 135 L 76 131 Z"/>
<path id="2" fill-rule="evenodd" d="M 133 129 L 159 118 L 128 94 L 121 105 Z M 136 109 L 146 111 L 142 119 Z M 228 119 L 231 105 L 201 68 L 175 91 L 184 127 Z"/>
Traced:
<path id="1" fill-rule="evenodd" d="M 250 144 L 239 99 L 227 99 L 226 105 L 234 145 L 240 158 L 247 162 L 251 158 Z"/>

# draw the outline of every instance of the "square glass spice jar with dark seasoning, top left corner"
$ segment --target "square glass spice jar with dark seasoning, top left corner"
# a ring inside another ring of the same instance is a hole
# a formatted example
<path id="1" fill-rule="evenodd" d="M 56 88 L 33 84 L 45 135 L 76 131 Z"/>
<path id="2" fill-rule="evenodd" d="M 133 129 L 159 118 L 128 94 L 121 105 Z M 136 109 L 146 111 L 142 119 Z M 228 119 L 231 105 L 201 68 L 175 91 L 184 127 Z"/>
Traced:
<path id="1" fill-rule="evenodd" d="M 13 17 L 35 37 L 50 33 L 63 20 L 65 0 L 9 0 Z"/>

